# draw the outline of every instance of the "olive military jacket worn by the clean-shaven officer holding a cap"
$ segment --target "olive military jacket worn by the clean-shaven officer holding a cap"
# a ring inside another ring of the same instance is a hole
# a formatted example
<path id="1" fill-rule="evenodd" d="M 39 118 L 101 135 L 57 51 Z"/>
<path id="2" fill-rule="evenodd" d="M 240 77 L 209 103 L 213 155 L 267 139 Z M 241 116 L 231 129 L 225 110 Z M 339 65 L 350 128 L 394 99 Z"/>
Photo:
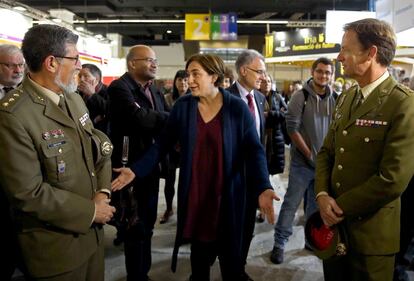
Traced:
<path id="1" fill-rule="evenodd" d="M 357 87 L 343 93 L 317 156 L 315 192 L 344 211 L 350 248 L 398 252 L 400 195 L 414 173 L 414 94 L 388 77 L 351 114 Z"/>

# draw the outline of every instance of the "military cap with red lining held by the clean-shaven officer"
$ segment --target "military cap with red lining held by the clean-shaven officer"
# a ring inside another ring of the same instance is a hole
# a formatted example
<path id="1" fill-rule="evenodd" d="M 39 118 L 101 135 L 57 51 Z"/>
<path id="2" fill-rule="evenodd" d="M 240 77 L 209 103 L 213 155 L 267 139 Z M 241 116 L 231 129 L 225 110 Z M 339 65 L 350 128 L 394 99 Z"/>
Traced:
<path id="1" fill-rule="evenodd" d="M 320 259 L 344 256 L 347 243 L 341 225 L 327 226 L 323 223 L 319 211 L 313 213 L 305 225 L 305 237 L 308 245 Z"/>

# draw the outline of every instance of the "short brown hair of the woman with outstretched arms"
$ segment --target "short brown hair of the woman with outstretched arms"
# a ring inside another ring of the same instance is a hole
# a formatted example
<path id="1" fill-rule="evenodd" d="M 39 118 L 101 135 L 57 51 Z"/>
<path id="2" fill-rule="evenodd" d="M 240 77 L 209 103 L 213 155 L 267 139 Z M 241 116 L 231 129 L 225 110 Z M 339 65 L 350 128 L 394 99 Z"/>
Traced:
<path id="1" fill-rule="evenodd" d="M 217 75 L 217 80 L 216 82 L 214 82 L 214 86 L 218 87 L 221 84 L 221 82 L 223 82 L 225 65 L 223 60 L 219 56 L 211 54 L 192 55 L 188 59 L 185 65 L 185 69 L 187 70 L 190 63 L 194 61 L 198 62 L 209 75 Z"/>

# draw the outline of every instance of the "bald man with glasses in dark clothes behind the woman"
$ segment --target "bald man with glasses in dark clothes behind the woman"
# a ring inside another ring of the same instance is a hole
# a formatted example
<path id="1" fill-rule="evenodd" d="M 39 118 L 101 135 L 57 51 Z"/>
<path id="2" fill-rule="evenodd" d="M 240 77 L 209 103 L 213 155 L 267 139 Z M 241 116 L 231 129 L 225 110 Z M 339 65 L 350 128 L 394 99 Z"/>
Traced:
<path id="1" fill-rule="evenodd" d="M 128 163 L 134 163 L 153 144 L 168 118 L 162 94 L 152 85 L 158 63 L 148 46 L 132 47 L 126 57 L 128 72 L 108 87 L 109 123 L 114 143 L 112 163 L 121 167 L 124 136 L 129 137 Z M 125 231 L 127 280 L 148 280 L 151 268 L 151 237 L 157 217 L 159 168 L 132 182 L 136 212 L 128 217 Z M 125 196 L 123 196 L 125 198 Z M 132 210 L 127 210 L 130 213 Z"/>

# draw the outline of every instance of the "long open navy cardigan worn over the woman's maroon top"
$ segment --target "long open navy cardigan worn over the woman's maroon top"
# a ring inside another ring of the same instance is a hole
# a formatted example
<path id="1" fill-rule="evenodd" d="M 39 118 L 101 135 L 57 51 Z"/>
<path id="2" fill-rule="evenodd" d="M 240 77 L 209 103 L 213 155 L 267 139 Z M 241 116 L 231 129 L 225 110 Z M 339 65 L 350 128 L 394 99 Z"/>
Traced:
<path id="1" fill-rule="evenodd" d="M 241 243 L 245 220 L 246 193 L 257 200 L 260 193 L 271 188 L 267 172 L 266 156 L 259 141 L 253 118 L 246 104 L 229 92 L 223 95 L 222 128 L 224 157 L 224 189 L 220 218 L 220 237 L 224 239 L 234 260 L 241 262 Z M 132 166 L 138 177 L 149 173 L 158 159 L 163 157 L 177 141 L 181 147 L 180 177 L 178 183 L 177 235 L 173 252 L 172 269 L 175 271 L 178 248 L 187 212 L 188 194 L 191 188 L 193 148 L 197 136 L 198 98 L 186 95 L 179 98 L 168 120 L 167 128 L 149 152 Z M 246 181 L 254 184 L 247 185 Z M 250 190 L 249 190 L 250 189 Z"/>

